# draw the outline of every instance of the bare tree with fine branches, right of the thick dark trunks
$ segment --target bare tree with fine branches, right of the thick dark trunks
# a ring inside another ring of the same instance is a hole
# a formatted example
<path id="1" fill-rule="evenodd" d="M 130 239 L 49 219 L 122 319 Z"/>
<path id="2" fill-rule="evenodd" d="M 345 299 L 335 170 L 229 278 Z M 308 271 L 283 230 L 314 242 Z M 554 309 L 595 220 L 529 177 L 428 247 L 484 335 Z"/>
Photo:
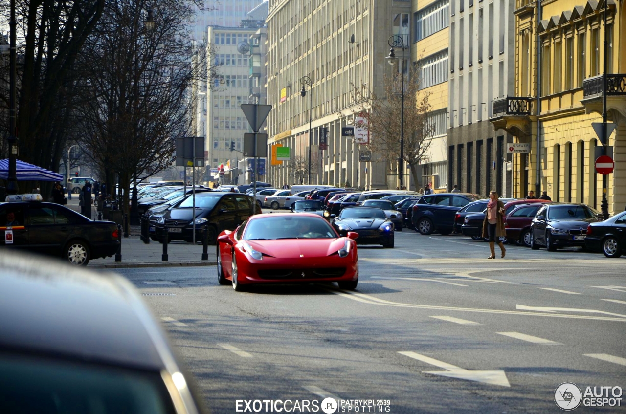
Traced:
<path id="1" fill-rule="evenodd" d="M 80 59 L 81 92 L 89 99 L 75 111 L 75 119 L 106 181 L 118 175 L 126 212 L 131 181 L 172 164 L 176 139 L 189 130 L 188 88 L 207 76 L 206 53 L 192 64 L 204 45 L 193 44 L 185 29 L 193 18 L 193 1 L 159 2 L 150 10 L 155 28 L 148 30 L 144 23 L 152 4 L 107 2 Z"/>

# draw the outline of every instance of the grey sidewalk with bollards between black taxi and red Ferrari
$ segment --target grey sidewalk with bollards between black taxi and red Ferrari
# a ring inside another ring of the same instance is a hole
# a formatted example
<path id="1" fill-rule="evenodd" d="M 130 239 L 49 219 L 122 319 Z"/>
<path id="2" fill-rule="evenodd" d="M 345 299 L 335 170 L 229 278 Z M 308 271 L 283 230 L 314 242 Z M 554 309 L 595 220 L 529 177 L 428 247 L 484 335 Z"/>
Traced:
<path id="1" fill-rule="evenodd" d="M 80 213 L 78 194 L 68 199 L 68 208 Z M 98 220 L 95 204 L 91 206 L 91 220 Z M 152 266 L 214 266 L 216 265 L 215 246 L 208 246 L 208 260 L 202 259 L 202 244 L 192 245 L 182 241 L 172 241 L 167 245 L 168 261 L 162 261 L 163 245 L 150 240 L 146 245 L 140 238 L 140 226 L 130 226 L 128 238 L 121 238 L 121 262 L 115 261 L 115 255 L 94 259 L 89 262 L 91 268 L 141 268 Z"/>

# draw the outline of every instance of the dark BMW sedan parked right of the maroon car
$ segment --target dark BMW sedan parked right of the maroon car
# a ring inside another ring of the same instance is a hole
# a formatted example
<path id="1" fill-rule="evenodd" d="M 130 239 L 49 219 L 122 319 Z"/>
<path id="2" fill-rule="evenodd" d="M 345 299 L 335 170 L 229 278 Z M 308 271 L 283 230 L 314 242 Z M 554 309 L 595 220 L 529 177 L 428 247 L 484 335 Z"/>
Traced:
<path id="1" fill-rule="evenodd" d="M 587 204 L 549 203 L 537 211 L 530 225 L 530 248 L 548 251 L 568 246 L 585 247 L 587 226 L 600 221 L 600 212 Z"/>

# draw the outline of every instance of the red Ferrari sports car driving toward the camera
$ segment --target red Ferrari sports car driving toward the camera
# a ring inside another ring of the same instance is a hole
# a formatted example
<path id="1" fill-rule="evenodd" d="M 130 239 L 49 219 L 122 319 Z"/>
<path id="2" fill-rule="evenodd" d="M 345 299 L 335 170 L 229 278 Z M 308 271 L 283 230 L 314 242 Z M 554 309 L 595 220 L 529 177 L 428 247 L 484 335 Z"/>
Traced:
<path id="1" fill-rule="evenodd" d="M 217 238 L 217 278 L 235 291 L 263 283 L 337 282 L 355 289 L 359 281 L 352 231 L 339 236 L 324 218 L 310 213 L 251 216 Z"/>

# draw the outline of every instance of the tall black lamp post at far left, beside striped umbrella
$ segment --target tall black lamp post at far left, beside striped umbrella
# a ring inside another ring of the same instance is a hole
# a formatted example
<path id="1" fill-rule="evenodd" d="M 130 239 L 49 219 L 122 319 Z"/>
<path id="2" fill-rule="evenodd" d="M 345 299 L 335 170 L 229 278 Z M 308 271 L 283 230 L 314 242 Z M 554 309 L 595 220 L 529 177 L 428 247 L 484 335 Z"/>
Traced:
<path id="1" fill-rule="evenodd" d="M 15 136 L 16 119 L 17 119 L 17 103 L 16 103 L 16 26 L 15 21 L 15 0 L 11 0 L 11 16 L 9 20 L 9 28 L 11 34 L 9 35 L 9 137 L 7 139 L 9 143 L 9 174 L 7 177 L 8 183 L 6 184 L 7 194 L 18 193 L 18 178 L 17 173 L 17 160 L 18 160 L 18 137 Z"/>

